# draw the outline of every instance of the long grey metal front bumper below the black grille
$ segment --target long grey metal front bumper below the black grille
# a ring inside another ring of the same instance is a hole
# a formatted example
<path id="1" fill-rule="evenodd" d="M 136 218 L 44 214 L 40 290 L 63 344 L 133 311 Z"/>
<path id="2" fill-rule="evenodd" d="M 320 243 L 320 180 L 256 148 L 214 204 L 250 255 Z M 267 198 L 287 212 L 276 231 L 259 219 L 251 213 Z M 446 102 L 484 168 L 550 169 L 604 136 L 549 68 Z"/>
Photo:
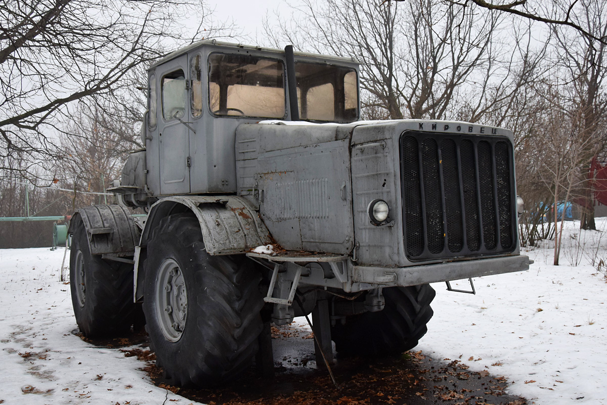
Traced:
<path id="1" fill-rule="evenodd" d="M 408 287 L 409 285 L 525 271 L 529 270 L 530 264 L 533 264 L 533 260 L 530 260 L 529 256 L 519 255 L 398 268 L 354 266 L 352 282 Z"/>

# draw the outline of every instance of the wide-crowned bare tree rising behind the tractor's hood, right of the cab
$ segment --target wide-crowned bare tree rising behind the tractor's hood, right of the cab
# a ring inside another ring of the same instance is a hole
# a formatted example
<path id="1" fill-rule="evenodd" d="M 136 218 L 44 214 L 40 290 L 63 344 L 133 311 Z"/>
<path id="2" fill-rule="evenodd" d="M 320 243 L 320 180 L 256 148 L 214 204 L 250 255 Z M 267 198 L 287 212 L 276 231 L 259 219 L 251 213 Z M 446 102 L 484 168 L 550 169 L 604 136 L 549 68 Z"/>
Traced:
<path id="1" fill-rule="evenodd" d="M 354 56 L 364 117 L 476 121 L 514 97 L 541 52 L 518 55 L 531 49 L 528 27 L 512 47 L 499 37 L 506 26 L 497 13 L 459 10 L 430 0 L 305 0 L 290 23 L 266 19 L 265 32 L 275 46 Z"/>

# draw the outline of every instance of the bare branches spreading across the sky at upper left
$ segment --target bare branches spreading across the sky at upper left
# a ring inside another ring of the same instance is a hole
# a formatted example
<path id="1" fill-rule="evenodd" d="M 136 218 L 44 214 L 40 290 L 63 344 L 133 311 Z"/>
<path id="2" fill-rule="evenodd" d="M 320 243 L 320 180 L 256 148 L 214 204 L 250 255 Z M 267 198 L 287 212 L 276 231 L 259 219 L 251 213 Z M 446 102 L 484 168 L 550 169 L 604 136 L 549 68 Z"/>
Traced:
<path id="1" fill-rule="evenodd" d="M 195 0 L 3 1 L 0 173 L 52 174 L 73 103 L 115 100 L 127 72 L 164 55 L 164 45 L 216 35 L 205 10 Z M 183 15 L 196 16 L 194 32 L 175 24 Z"/>

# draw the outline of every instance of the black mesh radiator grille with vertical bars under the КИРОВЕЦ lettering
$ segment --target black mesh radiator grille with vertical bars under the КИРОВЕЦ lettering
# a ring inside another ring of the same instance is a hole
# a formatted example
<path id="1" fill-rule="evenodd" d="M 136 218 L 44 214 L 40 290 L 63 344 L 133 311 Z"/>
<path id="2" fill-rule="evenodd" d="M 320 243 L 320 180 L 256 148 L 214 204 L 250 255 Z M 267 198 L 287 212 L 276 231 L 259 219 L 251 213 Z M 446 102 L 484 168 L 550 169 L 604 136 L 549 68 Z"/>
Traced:
<path id="1" fill-rule="evenodd" d="M 405 131 L 400 148 L 409 259 L 514 250 L 514 174 L 507 138 Z"/>

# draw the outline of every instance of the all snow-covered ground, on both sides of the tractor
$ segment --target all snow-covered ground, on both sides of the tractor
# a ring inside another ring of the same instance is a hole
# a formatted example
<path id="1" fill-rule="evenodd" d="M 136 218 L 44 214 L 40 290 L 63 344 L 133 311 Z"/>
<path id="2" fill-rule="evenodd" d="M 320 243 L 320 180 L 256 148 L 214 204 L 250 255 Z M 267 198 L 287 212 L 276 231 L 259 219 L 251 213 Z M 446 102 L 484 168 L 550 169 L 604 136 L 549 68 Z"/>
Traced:
<path id="1" fill-rule="evenodd" d="M 607 284 L 591 265 L 595 256 L 607 262 L 607 233 L 565 225 L 558 267 L 546 242 L 526 251 L 531 270 L 475 279 L 476 296 L 435 285 L 435 316 L 418 349 L 507 376 L 510 393 L 530 404 L 607 405 Z M 62 259 L 63 250 L 0 250 L 0 403 L 192 404 L 155 387 L 135 357 L 72 335 Z"/>

